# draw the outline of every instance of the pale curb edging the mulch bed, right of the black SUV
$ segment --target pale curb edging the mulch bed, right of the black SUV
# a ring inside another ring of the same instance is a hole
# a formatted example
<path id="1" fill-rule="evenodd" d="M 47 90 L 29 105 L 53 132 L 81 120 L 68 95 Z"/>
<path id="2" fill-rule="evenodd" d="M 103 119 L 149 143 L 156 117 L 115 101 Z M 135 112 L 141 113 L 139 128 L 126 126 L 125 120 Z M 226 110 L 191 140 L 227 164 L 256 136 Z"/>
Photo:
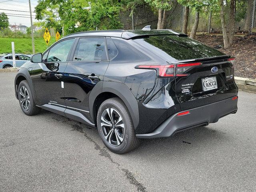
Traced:
<path id="1" fill-rule="evenodd" d="M 256 93 L 256 79 L 235 77 L 239 90 Z"/>

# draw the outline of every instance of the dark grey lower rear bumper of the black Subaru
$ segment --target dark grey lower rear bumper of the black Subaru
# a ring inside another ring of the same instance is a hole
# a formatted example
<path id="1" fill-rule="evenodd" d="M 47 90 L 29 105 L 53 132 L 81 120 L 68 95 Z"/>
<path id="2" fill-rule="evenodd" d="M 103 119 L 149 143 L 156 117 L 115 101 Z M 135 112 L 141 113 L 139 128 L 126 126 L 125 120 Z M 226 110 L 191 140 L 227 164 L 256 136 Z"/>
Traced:
<path id="1" fill-rule="evenodd" d="M 177 116 L 178 113 L 173 114 L 165 120 L 158 128 L 148 134 L 136 134 L 138 138 L 158 138 L 169 137 L 175 132 L 194 128 L 198 126 L 205 126 L 209 123 L 215 123 L 228 114 L 236 113 L 238 98 L 227 98 L 212 104 L 192 108 L 189 114 Z"/>

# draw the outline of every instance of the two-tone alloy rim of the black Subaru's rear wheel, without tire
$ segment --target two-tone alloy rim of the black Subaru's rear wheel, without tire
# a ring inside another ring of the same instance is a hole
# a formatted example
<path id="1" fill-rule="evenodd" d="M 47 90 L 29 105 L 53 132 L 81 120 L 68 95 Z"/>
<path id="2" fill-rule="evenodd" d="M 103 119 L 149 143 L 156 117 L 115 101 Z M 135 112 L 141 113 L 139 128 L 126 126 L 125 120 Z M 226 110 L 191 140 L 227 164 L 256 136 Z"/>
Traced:
<path id="1" fill-rule="evenodd" d="M 107 108 L 101 115 L 100 126 L 105 139 L 113 146 L 122 144 L 125 134 L 125 125 L 119 112 Z"/>

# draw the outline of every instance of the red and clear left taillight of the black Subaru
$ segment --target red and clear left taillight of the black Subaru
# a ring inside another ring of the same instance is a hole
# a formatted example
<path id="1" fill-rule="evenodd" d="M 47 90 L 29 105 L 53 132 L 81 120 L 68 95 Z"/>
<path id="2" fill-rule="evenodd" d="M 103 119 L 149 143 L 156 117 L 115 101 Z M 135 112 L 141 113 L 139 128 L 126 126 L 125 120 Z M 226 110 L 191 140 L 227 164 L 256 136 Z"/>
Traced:
<path id="1" fill-rule="evenodd" d="M 173 65 L 138 65 L 136 68 L 155 69 L 161 77 L 188 76 L 188 70 L 202 63 L 181 63 Z"/>

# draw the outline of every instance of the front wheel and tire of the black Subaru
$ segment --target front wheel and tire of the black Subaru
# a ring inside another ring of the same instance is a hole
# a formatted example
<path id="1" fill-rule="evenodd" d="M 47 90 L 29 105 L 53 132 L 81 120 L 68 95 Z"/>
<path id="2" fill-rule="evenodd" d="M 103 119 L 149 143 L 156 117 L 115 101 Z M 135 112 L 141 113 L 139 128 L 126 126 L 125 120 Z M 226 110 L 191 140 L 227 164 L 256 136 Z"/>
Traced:
<path id="1" fill-rule="evenodd" d="M 27 80 L 23 80 L 18 86 L 18 99 L 20 108 L 26 115 L 36 115 L 41 111 L 41 108 L 37 107 L 34 102 L 34 96 Z"/>

